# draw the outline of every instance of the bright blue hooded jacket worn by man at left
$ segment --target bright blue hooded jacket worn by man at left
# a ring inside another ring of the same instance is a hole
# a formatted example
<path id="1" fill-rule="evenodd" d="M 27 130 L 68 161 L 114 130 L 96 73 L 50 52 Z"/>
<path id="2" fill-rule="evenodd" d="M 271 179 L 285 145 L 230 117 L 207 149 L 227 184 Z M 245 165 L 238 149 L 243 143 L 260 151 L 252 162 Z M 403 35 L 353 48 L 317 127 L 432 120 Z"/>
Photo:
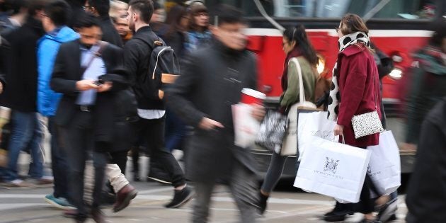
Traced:
<path id="1" fill-rule="evenodd" d="M 64 26 L 47 33 L 38 42 L 38 111 L 44 116 L 53 116 L 62 97 L 50 88 L 52 69 L 60 45 L 79 38 L 71 28 Z"/>

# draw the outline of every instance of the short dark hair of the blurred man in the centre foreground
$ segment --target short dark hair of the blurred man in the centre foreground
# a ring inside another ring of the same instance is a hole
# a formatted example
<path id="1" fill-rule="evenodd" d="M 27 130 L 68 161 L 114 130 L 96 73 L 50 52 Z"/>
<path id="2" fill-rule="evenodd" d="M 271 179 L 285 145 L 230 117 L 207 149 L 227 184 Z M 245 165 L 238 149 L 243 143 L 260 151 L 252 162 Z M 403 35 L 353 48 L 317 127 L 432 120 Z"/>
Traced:
<path id="1" fill-rule="evenodd" d="M 223 23 L 246 23 L 243 17 L 243 13 L 234 6 L 229 6 L 227 4 L 219 4 L 213 10 L 210 21 L 213 25 L 217 22 L 217 25 Z"/>

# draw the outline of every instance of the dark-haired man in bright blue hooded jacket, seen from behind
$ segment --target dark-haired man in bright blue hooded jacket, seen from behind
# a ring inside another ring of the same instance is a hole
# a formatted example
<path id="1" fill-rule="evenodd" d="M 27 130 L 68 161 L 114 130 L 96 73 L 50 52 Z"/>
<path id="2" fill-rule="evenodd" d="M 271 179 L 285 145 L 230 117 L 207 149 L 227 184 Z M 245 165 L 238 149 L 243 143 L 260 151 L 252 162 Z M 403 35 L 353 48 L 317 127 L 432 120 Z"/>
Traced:
<path id="1" fill-rule="evenodd" d="M 53 1 L 44 9 L 44 35 L 38 42 L 38 111 L 48 117 L 48 129 L 51 137 L 52 173 L 54 176 L 54 193 L 45 196 L 45 200 L 55 207 L 67 210 L 73 208 L 67 199 L 69 188 L 67 183 L 67 157 L 59 144 L 59 132 L 54 122 L 57 105 L 62 97 L 50 88 L 52 69 L 55 64 L 59 46 L 79 38 L 79 35 L 66 26 L 69 21 L 69 5 L 63 0 Z"/>

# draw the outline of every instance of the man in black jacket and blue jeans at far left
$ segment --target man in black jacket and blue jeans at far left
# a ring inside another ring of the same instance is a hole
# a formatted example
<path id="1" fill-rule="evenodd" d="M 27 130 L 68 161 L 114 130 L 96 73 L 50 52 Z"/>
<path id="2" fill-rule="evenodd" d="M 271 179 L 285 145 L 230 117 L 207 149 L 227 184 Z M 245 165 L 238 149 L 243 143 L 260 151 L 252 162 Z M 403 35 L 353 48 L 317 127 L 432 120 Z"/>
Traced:
<path id="1" fill-rule="evenodd" d="M 20 28 L 4 36 L 11 50 L 5 57 L 8 63 L 6 81 L 9 88 L 1 97 L 1 105 L 11 108 L 11 137 L 8 144 L 8 168 L 4 176 L 10 186 L 27 186 L 18 178 L 17 161 L 20 151 L 29 149 L 33 158 L 30 176 L 36 183 L 52 183 L 43 178 L 43 156 L 40 150 L 42 130 L 37 113 L 37 55 L 38 39 L 44 33 L 40 12 L 45 1 L 32 1 L 28 18 Z"/>

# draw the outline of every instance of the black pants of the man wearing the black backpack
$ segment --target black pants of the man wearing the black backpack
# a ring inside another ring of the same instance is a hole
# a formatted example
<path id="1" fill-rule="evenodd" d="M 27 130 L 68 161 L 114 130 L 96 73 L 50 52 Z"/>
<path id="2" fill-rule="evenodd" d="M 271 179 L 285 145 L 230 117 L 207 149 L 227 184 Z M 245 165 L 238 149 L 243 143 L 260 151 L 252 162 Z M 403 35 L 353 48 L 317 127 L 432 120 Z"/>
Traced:
<path id="1" fill-rule="evenodd" d="M 137 132 L 150 145 L 150 162 L 161 164 L 170 176 L 173 187 L 178 187 L 185 184 L 185 178 L 175 157 L 164 148 L 164 122 L 164 117 L 153 120 L 140 118 Z"/>

